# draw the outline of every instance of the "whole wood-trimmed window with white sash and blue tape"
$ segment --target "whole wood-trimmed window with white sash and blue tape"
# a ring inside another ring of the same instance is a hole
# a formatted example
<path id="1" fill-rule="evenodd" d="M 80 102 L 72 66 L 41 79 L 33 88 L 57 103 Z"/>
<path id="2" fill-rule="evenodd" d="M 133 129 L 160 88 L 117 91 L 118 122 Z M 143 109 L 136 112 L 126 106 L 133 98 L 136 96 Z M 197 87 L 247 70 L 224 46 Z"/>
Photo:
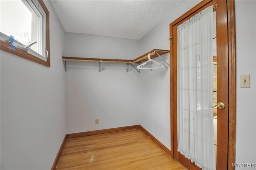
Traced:
<path id="1" fill-rule="evenodd" d="M 49 12 L 44 2 L 6 0 L 0 3 L 1 50 L 50 67 Z M 9 41 L 10 36 L 14 42 Z"/>

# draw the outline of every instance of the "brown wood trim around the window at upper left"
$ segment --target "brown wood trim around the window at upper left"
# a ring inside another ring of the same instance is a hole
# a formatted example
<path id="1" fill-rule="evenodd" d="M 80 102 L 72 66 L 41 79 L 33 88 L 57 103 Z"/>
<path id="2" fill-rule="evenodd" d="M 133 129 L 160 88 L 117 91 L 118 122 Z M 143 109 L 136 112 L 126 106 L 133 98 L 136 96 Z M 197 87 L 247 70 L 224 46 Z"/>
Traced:
<path id="1" fill-rule="evenodd" d="M 16 55 L 18 57 L 22 57 L 24 59 L 28 59 L 30 61 L 33 61 L 35 63 L 44 65 L 46 67 L 50 67 L 50 16 L 49 11 L 46 8 L 43 0 L 38 0 L 39 4 L 44 9 L 44 12 L 46 13 L 46 50 L 48 51 L 48 56 L 46 56 L 46 61 L 26 52 L 22 49 L 16 48 L 15 51 L 10 49 L 10 44 L 4 41 L 0 41 L 0 50 L 6 51 L 8 53 L 11 53 L 13 55 Z"/>

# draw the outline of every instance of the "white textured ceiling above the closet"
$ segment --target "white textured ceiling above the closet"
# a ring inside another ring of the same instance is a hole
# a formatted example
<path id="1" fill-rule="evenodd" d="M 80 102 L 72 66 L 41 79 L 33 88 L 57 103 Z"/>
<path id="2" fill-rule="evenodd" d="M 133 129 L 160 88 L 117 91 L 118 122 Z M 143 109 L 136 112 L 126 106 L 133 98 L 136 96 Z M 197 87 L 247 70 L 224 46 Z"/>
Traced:
<path id="1" fill-rule="evenodd" d="M 180 0 L 51 0 L 65 32 L 140 40 Z"/>

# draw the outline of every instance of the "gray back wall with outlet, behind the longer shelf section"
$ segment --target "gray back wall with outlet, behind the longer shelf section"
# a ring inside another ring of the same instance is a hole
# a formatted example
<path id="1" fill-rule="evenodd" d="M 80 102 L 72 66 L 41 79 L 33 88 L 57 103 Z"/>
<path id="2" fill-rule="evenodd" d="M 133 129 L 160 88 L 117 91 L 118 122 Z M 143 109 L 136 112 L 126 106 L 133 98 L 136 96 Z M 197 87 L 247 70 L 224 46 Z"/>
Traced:
<path id="1" fill-rule="evenodd" d="M 139 41 L 66 33 L 65 56 L 134 59 Z M 138 125 L 139 73 L 125 63 L 67 61 L 67 132 Z M 99 124 L 95 124 L 99 119 Z"/>

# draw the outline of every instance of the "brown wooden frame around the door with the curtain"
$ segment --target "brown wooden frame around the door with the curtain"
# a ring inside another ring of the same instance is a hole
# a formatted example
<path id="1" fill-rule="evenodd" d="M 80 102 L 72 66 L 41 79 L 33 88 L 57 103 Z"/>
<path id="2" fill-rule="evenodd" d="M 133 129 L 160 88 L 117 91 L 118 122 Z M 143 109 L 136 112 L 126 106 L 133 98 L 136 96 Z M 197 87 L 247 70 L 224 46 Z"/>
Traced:
<path id="1" fill-rule="evenodd" d="M 183 18 L 194 13 L 199 8 L 205 6 L 212 0 L 204 0 L 190 9 L 188 12 L 180 16 L 170 24 L 170 38 L 173 37 L 172 26 L 176 25 Z M 228 169 L 234 170 L 236 154 L 236 27 L 235 27 L 235 2 L 227 0 L 227 22 L 228 22 Z M 174 93 L 174 56 L 173 56 L 173 40 L 170 39 L 170 127 L 171 127 L 171 156 L 174 157 L 174 106 L 173 101 L 177 99 Z"/>

